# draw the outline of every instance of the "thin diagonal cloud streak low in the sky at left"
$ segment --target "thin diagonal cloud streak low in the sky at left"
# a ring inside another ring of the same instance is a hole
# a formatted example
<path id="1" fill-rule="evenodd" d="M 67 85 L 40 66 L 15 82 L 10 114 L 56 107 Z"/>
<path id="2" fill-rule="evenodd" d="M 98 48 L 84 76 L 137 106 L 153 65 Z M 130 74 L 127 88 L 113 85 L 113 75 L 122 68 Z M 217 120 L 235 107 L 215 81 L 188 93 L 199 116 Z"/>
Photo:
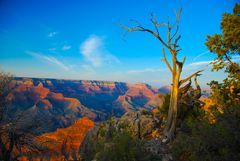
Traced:
<path id="1" fill-rule="evenodd" d="M 53 56 L 45 56 L 39 52 L 32 52 L 32 51 L 27 51 L 26 53 L 35 58 L 42 59 L 42 60 L 48 61 L 49 63 L 55 64 L 65 71 L 69 71 L 71 68 L 70 66 L 64 64 L 63 62 L 61 62 L 60 60 L 58 60 Z"/>

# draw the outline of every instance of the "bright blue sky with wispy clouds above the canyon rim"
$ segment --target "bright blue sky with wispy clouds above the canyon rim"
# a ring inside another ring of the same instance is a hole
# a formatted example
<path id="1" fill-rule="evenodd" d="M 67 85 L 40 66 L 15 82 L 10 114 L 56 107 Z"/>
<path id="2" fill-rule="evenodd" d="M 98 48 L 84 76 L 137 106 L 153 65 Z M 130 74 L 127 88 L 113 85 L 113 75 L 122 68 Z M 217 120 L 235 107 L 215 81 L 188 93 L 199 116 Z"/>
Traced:
<path id="1" fill-rule="evenodd" d="M 171 74 L 162 59 L 162 44 L 152 35 L 126 33 L 120 24 L 136 19 L 154 29 L 175 21 L 182 6 L 179 60 L 187 57 L 182 78 L 205 69 L 201 85 L 221 81 L 223 71 L 211 72 L 215 55 L 204 42 L 221 33 L 224 12 L 237 0 L 0 0 L 0 70 L 19 77 L 109 80 L 169 85 Z M 160 29 L 165 39 L 166 30 Z M 170 61 L 170 55 L 167 53 Z"/>

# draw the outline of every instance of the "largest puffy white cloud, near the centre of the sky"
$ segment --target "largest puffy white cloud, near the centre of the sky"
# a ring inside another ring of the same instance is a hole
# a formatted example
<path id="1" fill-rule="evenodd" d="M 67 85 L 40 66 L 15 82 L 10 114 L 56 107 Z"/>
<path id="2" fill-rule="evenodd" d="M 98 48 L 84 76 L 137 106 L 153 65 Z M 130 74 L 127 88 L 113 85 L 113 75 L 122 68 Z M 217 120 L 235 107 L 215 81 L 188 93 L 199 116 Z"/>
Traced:
<path id="1" fill-rule="evenodd" d="M 94 67 L 102 66 L 104 63 L 119 63 L 119 59 L 107 51 L 103 39 L 91 35 L 80 45 L 80 53 Z"/>

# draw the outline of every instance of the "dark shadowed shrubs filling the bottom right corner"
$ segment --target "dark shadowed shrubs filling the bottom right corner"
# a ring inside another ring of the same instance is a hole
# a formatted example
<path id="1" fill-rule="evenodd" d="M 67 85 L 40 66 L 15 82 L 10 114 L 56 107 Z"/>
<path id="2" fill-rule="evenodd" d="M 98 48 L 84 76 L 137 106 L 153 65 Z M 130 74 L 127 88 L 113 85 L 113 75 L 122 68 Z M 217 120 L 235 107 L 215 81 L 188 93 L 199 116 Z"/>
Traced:
<path id="1" fill-rule="evenodd" d="M 240 159 L 240 108 L 215 111 L 217 122 L 187 119 L 185 131 L 177 135 L 173 152 L 181 161 L 237 161 Z"/>

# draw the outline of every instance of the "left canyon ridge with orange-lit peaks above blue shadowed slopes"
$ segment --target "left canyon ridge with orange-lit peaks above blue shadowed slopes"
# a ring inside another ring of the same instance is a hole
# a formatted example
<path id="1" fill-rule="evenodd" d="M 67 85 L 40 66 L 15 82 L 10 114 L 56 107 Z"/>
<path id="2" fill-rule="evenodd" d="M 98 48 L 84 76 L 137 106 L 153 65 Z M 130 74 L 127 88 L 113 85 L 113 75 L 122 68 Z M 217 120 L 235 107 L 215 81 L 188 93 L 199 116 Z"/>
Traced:
<path id="1" fill-rule="evenodd" d="M 33 81 L 28 79 L 15 81 L 13 84 L 15 87 L 8 96 L 12 117 L 23 115 L 22 117 L 31 116 L 43 120 L 42 132 L 68 127 L 84 116 L 96 120 L 100 115 L 86 108 L 76 98 L 52 92 L 41 82 L 34 85 Z"/>

